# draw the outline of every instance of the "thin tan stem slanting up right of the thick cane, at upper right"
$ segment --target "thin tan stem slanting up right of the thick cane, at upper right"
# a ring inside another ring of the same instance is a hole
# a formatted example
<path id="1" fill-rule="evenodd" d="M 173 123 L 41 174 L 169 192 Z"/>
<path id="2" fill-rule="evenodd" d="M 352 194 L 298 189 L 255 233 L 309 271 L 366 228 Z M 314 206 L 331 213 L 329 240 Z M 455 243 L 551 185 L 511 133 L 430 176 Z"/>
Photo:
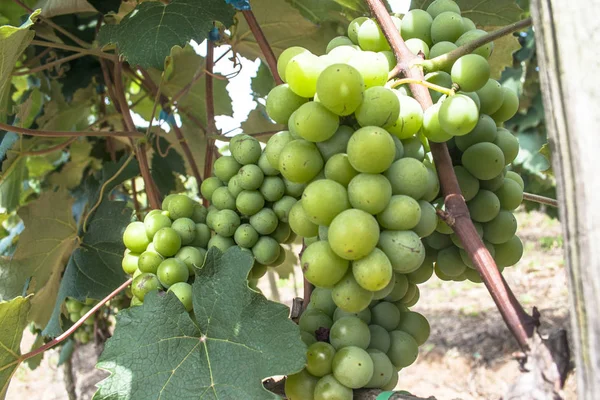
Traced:
<path id="1" fill-rule="evenodd" d="M 423 69 L 427 72 L 431 71 L 439 71 L 442 69 L 446 69 L 454 64 L 454 61 L 458 60 L 460 57 L 471 54 L 473 50 L 481 47 L 485 44 L 493 42 L 496 39 L 499 39 L 503 36 L 510 35 L 513 32 L 520 31 L 522 29 L 527 28 L 532 23 L 531 18 L 525 18 L 521 21 L 517 21 L 513 24 L 506 25 L 503 28 L 495 30 L 493 32 L 488 33 L 485 36 L 477 38 L 469 43 L 466 43 L 449 53 L 442 54 L 440 56 L 434 57 L 430 60 L 422 60 L 419 64 L 423 67 Z M 394 69 L 395 70 L 395 69 Z M 393 72 L 393 71 L 392 71 Z M 396 71 L 395 76 L 398 72 Z M 390 73 L 391 74 L 391 73 Z"/>

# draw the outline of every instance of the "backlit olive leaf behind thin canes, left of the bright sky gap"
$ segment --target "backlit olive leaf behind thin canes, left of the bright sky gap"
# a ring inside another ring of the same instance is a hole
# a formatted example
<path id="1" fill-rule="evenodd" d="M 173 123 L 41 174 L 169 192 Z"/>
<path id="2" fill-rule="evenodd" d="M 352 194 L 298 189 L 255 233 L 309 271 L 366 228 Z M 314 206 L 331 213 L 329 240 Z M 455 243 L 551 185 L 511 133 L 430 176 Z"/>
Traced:
<path id="1" fill-rule="evenodd" d="M 178 96 L 177 108 L 182 118 L 186 114 L 206 125 L 206 89 L 205 79 L 201 77 L 194 83 L 194 77 L 204 68 L 204 58 L 196 54 L 191 46 L 175 46 L 165 60 L 165 73 L 162 77 L 161 91 L 169 97 Z M 154 82 L 159 85 L 161 72 L 148 71 Z M 191 87 L 188 85 L 192 83 Z M 232 100 L 227 92 L 227 80 L 213 79 L 213 98 L 216 115 L 232 115 Z M 186 94 L 180 94 L 186 91 Z"/>

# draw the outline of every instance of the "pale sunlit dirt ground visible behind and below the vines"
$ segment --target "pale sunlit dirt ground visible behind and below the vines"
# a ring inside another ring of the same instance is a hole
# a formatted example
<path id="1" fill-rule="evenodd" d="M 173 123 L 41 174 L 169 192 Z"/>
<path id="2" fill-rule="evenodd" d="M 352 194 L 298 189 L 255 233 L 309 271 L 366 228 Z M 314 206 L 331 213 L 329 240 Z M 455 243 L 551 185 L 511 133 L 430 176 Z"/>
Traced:
<path id="1" fill-rule="evenodd" d="M 536 306 L 542 330 L 569 329 L 567 276 L 560 224 L 539 212 L 517 214 L 525 255 L 504 276 L 524 307 Z M 282 302 L 291 304 L 301 295 L 297 279 L 265 276 L 259 287 L 267 297 L 277 288 Z M 269 279 L 271 278 L 271 279 Z M 294 281 L 295 284 L 294 284 Z M 514 353 L 518 350 L 489 294 L 482 284 L 442 282 L 433 277 L 420 286 L 421 299 L 413 308 L 431 323 L 431 337 L 419 359 L 400 372 L 398 389 L 438 400 L 499 399 L 519 375 Z M 24 341 L 31 345 L 31 338 Z M 93 368 L 98 354 L 94 345 L 78 349 L 73 359 L 77 399 L 90 399 L 94 384 L 105 374 Z M 21 366 L 7 393 L 8 400 L 66 400 L 64 370 L 56 367 L 58 353 L 50 351 L 35 371 Z M 567 380 L 566 399 L 576 399 L 574 376 Z"/>

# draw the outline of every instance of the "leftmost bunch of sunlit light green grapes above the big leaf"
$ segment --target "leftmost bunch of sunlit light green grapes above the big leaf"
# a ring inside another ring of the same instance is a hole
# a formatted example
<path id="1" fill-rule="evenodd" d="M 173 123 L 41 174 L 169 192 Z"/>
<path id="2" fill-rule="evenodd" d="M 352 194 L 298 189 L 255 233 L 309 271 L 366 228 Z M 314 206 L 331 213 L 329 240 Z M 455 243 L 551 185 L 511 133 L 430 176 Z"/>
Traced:
<path id="1" fill-rule="evenodd" d="M 204 265 L 211 238 L 206 218 L 201 204 L 186 195 L 171 194 L 163 200 L 162 210 L 152 210 L 143 222 L 127 226 L 122 266 L 133 276 L 132 306 L 141 305 L 150 291 L 167 290 L 186 310 L 192 310 L 191 283 L 195 268 Z"/>

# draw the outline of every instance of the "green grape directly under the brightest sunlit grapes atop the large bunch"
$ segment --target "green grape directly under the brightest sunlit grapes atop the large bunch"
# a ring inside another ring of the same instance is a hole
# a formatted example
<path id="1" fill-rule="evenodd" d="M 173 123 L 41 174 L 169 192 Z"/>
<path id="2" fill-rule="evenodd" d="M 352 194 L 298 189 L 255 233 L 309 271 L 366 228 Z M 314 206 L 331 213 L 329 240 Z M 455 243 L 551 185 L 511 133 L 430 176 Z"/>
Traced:
<path id="1" fill-rule="evenodd" d="M 354 116 L 361 126 L 386 126 L 393 124 L 400 112 L 400 100 L 392 89 L 375 86 L 365 90 L 362 103 Z M 350 139 L 352 142 L 352 139 Z"/>

